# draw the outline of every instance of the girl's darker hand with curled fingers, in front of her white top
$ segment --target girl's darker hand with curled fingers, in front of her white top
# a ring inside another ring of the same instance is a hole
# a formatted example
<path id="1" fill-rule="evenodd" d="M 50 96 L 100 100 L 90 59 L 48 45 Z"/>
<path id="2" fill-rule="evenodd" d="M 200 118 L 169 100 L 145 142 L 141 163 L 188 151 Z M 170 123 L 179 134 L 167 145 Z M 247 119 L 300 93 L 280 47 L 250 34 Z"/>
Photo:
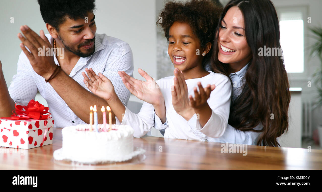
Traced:
<path id="1" fill-rule="evenodd" d="M 190 106 L 194 109 L 201 109 L 207 105 L 207 100 L 210 97 L 211 91 L 215 89 L 215 85 L 208 84 L 206 88 L 203 88 L 201 82 L 197 83 L 199 87 L 199 92 L 197 91 L 197 87 L 194 87 L 194 97 L 189 95 Z"/>

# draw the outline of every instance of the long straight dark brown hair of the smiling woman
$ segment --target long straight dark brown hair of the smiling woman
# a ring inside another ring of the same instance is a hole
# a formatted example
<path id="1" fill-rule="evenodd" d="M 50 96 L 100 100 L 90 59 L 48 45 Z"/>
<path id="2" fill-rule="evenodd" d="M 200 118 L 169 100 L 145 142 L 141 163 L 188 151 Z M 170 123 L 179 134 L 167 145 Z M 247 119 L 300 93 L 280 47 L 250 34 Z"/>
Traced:
<path id="1" fill-rule="evenodd" d="M 277 137 L 288 130 L 289 81 L 280 56 L 259 56 L 264 45 L 280 49 L 279 20 L 270 0 L 231 0 L 224 7 L 214 42 L 219 40 L 223 17 L 238 6 L 244 17 L 245 36 L 252 51 L 241 94 L 231 103 L 228 123 L 236 130 L 262 132 L 257 145 L 280 146 Z M 266 50 L 264 50 L 266 51 Z M 218 60 L 213 47 L 212 70 L 229 75 L 229 64 Z M 253 130 L 262 123 L 262 130 Z"/>

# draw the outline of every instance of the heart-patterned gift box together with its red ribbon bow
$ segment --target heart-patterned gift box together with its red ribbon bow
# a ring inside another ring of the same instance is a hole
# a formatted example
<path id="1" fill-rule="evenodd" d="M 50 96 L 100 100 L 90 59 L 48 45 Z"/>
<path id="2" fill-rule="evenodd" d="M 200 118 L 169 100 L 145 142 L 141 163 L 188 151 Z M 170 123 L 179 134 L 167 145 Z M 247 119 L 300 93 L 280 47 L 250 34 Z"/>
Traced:
<path id="1" fill-rule="evenodd" d="M 52 144 L 54 120 L 48 107 L 31 100 L 15 108 L 10 118 L 0 118 L 0 146 L 31 149 Z"/>

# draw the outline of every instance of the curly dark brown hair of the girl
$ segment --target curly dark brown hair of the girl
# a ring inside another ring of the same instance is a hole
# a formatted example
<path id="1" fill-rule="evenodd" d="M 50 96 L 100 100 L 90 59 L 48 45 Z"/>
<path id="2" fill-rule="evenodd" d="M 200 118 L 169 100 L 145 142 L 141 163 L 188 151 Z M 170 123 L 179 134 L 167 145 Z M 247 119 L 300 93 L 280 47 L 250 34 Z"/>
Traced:
<path id="1" fill-rule="evenodd" d="M 194 35 L 199 38 L 201 47 L 205 47 L 208 42 L 212 44 L 211 50 L 203 60 L 205 66 L 211 57 L 214 35 L 222 10 L 221 5 L 216 5 L 210 0 L 192 0 L 186 3 L 169 1 L 158 16 L 162 18 L 162 22 L 158 20 L 156 24 L 161 26 L 168 42 L 169 29 L 174 22 L 189 24 Z"/>

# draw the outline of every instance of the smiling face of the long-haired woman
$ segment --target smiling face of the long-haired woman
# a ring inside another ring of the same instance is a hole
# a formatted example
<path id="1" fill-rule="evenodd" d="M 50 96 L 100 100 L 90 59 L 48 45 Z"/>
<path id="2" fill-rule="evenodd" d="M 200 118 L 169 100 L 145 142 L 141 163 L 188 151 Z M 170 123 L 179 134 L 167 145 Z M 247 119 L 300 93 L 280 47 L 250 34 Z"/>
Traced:
<path id="1" fill-rule="evenodd" d="M 244 18 L 237 6 L 225 14 L 219 28 L 218 60 L 223 63 L 246 65 L 251 57 L 251 48 L 245 37 Z"/>

